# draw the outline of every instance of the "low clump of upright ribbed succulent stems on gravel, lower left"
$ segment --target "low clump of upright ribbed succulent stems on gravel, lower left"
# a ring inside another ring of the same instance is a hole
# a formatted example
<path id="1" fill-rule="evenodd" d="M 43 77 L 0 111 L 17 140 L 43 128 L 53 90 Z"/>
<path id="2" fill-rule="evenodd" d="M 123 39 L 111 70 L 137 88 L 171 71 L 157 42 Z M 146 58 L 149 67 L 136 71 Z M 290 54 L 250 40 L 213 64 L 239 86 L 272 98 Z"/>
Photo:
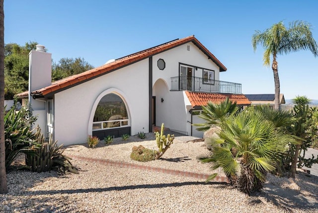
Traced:
<path id="1" fill-rule="evenodd" d="M 71 158 L 63 155 L 61 150 L 63 144 L 58 146 L 57 141 L 53 142 L 52 136 L 46 143 L 40 128 L 35 133 L 35 138 L 39 146 L 25 156 L 25 163 L 33 172 L 47 172 L 57 167 L 58 171 L 62 173 L 65 173 L 66 170 L 76 174 L 79 173 L 72 165 Z"/>

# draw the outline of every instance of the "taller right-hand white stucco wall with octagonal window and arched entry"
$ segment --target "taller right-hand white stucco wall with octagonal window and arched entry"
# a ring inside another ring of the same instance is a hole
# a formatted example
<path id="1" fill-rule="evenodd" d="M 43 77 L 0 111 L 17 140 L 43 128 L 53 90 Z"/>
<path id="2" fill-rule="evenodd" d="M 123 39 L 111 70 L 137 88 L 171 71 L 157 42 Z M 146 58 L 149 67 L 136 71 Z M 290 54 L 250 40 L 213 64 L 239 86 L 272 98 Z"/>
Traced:
<path id="1" fill-rule="evenodd" d="M 187 45 L 190 45 L 190 51 L 187 50 Z M 164 70 L 159 70 L 157 66 L 159 59 L 165 62 Z M 156 125 L 164 122 L 165 127 L 190 135 L 191 123 L 188 121 L 191 121 L 189 109 L 192 106 L 184 91 L 170 91 L 170 78 L 179 75 L 179 63 L 214 70 L 215 80 L 219 80 L 220 68 L 192 42 L 153 56 L 153 96 L 156 96 L 157 102 Z M 202 78 L 202 69 L 194 70 L 194 75 Z M 164 99 L 163 103 L 160 102 L 161 98 Z"/>

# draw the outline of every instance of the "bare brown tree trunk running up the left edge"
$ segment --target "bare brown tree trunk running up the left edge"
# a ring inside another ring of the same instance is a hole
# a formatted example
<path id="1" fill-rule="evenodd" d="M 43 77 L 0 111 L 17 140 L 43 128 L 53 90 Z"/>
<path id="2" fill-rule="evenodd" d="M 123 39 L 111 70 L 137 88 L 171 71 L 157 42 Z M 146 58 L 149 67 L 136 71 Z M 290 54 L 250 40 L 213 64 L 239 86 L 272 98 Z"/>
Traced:
<path id="1" fill-rule="evenodd" d="M 5 173 L 4 144 L 4 11 L 0 0 L 0 194 L 8 192 Z"/>

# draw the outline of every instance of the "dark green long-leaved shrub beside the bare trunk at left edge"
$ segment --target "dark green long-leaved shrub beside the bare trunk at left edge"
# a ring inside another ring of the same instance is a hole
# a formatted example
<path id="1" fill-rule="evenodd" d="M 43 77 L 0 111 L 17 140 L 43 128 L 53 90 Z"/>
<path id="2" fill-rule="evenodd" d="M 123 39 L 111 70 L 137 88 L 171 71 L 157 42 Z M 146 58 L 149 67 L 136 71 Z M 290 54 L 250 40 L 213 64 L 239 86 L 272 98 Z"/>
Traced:
<path id="1" fill-rule="evenodd" d="M 38 145 L 35 141 L 34 132 L 30 129 L 36 120 L 32 116 L 32 109 L 21 107 L 19 111 L 12 106 L 4 114 L 4 140 L 5 140 L 5 168 L 8 169 L 11 163 L 20 153 L 33 150 Z"/>

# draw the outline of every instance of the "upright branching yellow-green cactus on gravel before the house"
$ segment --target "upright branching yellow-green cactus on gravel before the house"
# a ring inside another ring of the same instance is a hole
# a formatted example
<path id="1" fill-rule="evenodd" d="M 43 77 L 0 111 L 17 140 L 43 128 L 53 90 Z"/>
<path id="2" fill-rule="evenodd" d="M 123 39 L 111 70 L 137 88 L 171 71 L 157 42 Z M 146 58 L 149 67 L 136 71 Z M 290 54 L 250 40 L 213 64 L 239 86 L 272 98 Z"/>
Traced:
<path id="1" fill-rule="evenodd" d="M 159 159 L 164 154 L 164 152 L 168 148 L 170 148 L 170 145 L 173 143 L 173 140 L 174 140 L 174 134 L 172 135 L 168 134 L 167 136 L 165 136 L 163 134 L 163 130 L 164 130 L 164 123 L 161 124 L 160 134 L 159 132 L 156 132 L 156 142 L 157 142 L 157 146 L 159 150 L 155 159 Z"/>

